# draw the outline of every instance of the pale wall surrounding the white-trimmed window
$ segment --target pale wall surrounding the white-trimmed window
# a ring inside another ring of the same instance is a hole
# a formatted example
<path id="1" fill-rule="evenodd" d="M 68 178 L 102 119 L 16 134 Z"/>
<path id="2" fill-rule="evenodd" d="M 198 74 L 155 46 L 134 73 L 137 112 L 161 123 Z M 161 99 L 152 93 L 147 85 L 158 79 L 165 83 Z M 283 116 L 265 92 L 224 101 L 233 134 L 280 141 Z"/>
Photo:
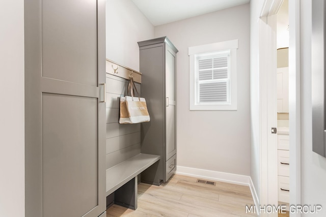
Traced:
<path id="1" fill-rule="evenodd" d="M 177 47 L 177 164 L 250 175 L 249 4 L 155 27 Z M 189 111 L 188 47 L 238 39 L 237 111 Z"/>

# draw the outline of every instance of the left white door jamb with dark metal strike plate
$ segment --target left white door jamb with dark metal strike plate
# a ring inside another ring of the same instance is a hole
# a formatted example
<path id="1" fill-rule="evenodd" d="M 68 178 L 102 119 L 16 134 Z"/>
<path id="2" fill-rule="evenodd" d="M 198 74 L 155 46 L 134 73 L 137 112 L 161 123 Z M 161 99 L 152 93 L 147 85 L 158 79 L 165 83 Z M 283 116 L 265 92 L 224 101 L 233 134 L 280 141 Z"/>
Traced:
<path id="1" fill-rule="evenodd" d="M 260 206 L 278 205 L 277 194 L 277 37 L 276 14 L 283 0 L 265 0 L 259 19 Z M 260 216 L 277 213 L 261 212 Z"/>

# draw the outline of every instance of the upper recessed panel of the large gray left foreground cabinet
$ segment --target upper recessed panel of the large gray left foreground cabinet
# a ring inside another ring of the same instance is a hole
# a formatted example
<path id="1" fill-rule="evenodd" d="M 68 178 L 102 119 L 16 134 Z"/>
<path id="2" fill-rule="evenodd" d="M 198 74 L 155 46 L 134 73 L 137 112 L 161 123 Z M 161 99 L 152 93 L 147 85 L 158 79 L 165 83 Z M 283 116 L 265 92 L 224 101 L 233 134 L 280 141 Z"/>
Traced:
<path id="1" fill-rule="evenodd" d="M 42 69 L 44 77 L 97 86 L 96 1 L 42 1 Z"/>

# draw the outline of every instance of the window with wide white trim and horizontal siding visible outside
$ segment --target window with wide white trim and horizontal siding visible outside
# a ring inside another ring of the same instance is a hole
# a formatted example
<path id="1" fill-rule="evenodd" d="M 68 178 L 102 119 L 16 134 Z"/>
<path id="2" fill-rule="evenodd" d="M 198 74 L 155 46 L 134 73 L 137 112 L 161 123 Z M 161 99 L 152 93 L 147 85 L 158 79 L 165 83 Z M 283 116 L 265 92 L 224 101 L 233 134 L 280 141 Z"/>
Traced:
<path id="1" fill-rule="evenodd" d="M 190 110 L 236 110 L 238 40 L 189 47 Z"/>

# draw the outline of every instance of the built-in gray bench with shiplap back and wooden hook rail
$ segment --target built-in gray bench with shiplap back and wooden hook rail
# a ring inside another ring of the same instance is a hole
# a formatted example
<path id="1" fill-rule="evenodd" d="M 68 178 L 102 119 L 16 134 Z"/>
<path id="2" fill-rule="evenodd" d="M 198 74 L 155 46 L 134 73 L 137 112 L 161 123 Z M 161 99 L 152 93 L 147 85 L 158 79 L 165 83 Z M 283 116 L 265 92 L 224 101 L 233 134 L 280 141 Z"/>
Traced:
<path id="1" fill-rule="evenodd" d="M 160 156 L 141 153 L 141 126 L 119 124 L 119 98 L 127 94 L 129 76 L 141 93 L 142 73 L 106 59 L 106 206 L 137 209 L 138 175 Z M 155 166 L 155 165 L 153 165 Z"/>

